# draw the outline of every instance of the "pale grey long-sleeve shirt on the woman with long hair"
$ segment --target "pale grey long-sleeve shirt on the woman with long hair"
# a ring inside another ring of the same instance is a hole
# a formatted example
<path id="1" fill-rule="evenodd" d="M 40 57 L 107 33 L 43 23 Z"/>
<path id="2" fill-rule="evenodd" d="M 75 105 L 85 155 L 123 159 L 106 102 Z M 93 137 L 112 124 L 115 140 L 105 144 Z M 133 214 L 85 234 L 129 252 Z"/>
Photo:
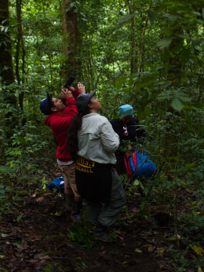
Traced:
<path id="1" fill-rule="evenodd" d="M 82 129 L 78 133 L 79 156 L 98 163 L 115 164 L 114 152 L 119 143 L 119 136 L 107 118 L 98 113 L 83 116 Z"/>

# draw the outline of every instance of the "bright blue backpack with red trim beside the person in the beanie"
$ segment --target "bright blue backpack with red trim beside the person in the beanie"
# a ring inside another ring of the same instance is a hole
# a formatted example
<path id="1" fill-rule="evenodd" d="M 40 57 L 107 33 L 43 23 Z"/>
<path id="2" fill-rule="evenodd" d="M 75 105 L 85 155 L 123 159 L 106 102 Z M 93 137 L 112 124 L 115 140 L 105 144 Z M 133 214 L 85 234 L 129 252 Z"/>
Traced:
<path id="1" fill-rule="evenodd" d="M 151 155 L 147 155 L 147 150 L 134 149 L 127 152 L 124 156 L 125 167 L 130 178 L 150 178 L 156 170 L 156 164 L 151 159 Z"/>

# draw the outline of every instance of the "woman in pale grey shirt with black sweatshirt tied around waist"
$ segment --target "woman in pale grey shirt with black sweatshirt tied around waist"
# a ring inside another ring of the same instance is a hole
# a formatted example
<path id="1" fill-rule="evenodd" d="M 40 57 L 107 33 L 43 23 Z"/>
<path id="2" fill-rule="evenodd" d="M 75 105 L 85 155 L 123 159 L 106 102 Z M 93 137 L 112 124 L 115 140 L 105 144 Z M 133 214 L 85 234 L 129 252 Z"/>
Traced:
<path id="1" fill-rule="evenodd" d="M 95 92 L 80 94 L 76 99 L 78 114 L 69 128 L 68 149 L 76 163 L 77 190 L 84 198 L 89 221 L 96 226 L 94 236 L 111 241 L 107 228 L 117 221 L 125 204 L 122 182 L 114 170 L 119 136 L 99 115 L 102 105 Z"/>

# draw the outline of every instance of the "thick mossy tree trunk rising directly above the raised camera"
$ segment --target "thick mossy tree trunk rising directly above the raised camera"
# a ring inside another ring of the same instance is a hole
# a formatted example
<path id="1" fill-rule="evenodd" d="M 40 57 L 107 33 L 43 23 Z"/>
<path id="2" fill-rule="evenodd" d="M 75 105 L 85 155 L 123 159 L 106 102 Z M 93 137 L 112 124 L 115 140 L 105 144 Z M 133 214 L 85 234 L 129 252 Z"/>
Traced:
<path id="1" fill-rule="evenodd" d="M 74 3 L 70 0 L 62 0 L 62 34 L 63 53 L 66 56 L 62 75 L 65 80 L 70 75 L 77 77 L 80 73 L 77 13 Z"/>

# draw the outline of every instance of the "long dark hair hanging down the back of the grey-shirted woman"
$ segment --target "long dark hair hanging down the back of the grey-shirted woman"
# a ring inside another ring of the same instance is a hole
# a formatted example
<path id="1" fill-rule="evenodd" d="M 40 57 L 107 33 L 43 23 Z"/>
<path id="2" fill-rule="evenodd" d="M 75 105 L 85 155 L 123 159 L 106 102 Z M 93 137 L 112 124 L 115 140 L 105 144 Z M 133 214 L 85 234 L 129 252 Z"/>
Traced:
<path id="1" fill-rule="evenodd" d="M 69 131 L 67 135 L 67 148 L 73 161 L 77 160 L 77 151 L 79 151 L 78 132 L 82 128 L 82 117 L 89 113 L 90 113 L 90 109 L 87 106 L 87 109 L 85 112 L 77 113 L 74 116 L 74 119 L 71 121 L 71 124 L 69 126 Z"/>

